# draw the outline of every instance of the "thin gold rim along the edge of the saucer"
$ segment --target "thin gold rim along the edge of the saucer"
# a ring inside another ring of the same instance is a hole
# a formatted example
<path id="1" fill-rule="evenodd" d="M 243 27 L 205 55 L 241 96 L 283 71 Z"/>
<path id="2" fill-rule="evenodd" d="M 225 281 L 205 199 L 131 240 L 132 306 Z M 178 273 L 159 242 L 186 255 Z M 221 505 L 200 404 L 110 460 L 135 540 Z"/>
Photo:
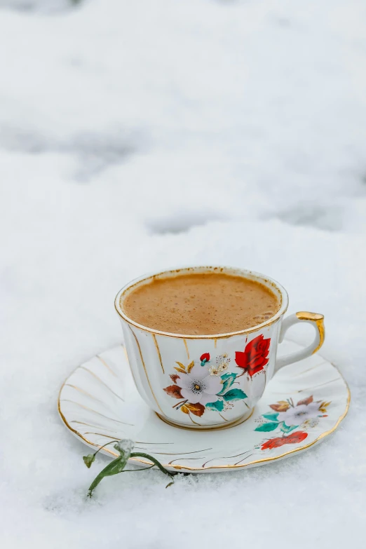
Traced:
<path id="1" fill-rule="evenodd" d="M 322 357 L 323 358 L 323 357 Z M 325 360 L 325 359 L 324 359 Z M 304 445 L 304 446 L 301 446 L 299 448 L 294 448 L 292 450 L 290 450 L 290 452 L 285 452 L 284 454 L 280 454 L 280 456 L 273 456 L 273 457 L 267 457 L 267 458 L 264 458 L 264 459 L 257 459 L 255 461 L 249 461 L 248 463 L 244 463 L 243 465 L 217 465 L 217 466 L 210 466 L 210 467 L 200 467 L 200 468 L 195 468 L 195 467 L 189 467 L 189 466 L 180 466 L 180 465 L 170 465 L 169 463 L 162 463 L 163 467 L 165 468 L 170 468 L 170 469 L 175 469 L 175 470 L 187 470 L 187 471 L 191 471 L 191 473 L 198 473 L 200 471 L 208 471 L 210 469 L 243 469 L 245 467 L 248 467 L 248 466 L 251 466 L 251 465 L 255 465 L 256 463 L 265 463 L 265 462 L 269 462 L 269 461 L 276 461 L 277 459 L 281 459 L 285 456 L 289 456 L 290 454 L 295 454 L 296 452 L 301 452 L 301 450 L 305 450 L 307 448 L 310 448 L 311 446 L 313 445 L 316 445 L 316 443 L 327 437 L 328 435 L 334 433 L 334 431 L 337 429 L 337 427 L 339 426 L 339 423 L 341 423 L 341 421 L 346 417 L 347 413 L 348 413 L 348 409 L 349 409 L 349 406 L 350 406 L 350 402 L 351 402 L 351 391 L 349 390 L 349 387 L 348 387 L 348 384 L 346 382 L 346 379 L 344 379 L 344 377 L 342 376 L 341 372 L 339 372 L 339 369 L 337 368 L 336 365 L 333 364 L 333 362 L 330 362 L 329 360 L 326 360 L 326 362 L 328 362 L 329 364 L 331 364 L 335 370 L 337 370 L 337 372 L 339 373 L 339 377 L 342 379 L 342 381 L 344 382 L 344 385 L 346 386 L 346 390 L 347 390 L 347 401 L 346 401 L 346 409 L 344 411 L 343 414 L 341 414 L 341 416 L 339 416 L 338 420 L 337 420 L 337 423 L 334 425 L 334 427 L 332 429 L 330 429 L 329 431 L 325 431 L 324 433 L 322 433 L 321 435 L 318 436 L 318 438 L 316 438 L 316 440 L 313 440 L 313 442 L 309 442 L 309 444 L 307 445 Z M 79 368 L 76 367 L 74 368 L 74 370 L 72 370 L 71 374 L 69 374 L 69 376 L 67 376 L 67 378 L 65 379 L 64 383 L 62 384 L 61 388 L 60 388 L 60 391 L 58 393 L 58 398 L 57 398 L 57 410 L 58 410 L 58 413 L 60 414 L 60 417 L 62 419 L 62 421 L 65 423 L 65 426 L 67 426 L 67 428 L 69 429 L 69 431 L 72 431 L 72 433 L 74 433 L 74 435 L 76 435 L 77 437 L 81 438 L 81 440 L 83 440 L 83 442 L 86 442 L 86 444 L 88 446 L 91 446 L 93 448 L 101 448 L 102 446 L 101 445 L 97 445 L 95 444 L 94 442 L 91 442 L 90 440 L 88 440 L 87 438 L 85 438 L 83 435 L 81 435 L 81 433 L 79 433 L 79 431 L 76 431 L 76 429 L 72 428 L 72 426 L 69 425 L 67 419 L 65 418 L 64 414 L 62 414 L 62 411 L 61 411 L 61 407 L 60 407 L 60 395 L 62 393 L 62 389 L 64 388 L 67 380 L 69 379 L 69 377 Z M 103 448 L 102 449 L 102 452 L 105 452 L 107 454 L 110 454 L 111 456 L 113 457 L 118 457 L 119 454 L 116 454 L 116 452 L 113 452 L 113 450 L 110 450 L 108 448 Z M 151 465 L 151 462 L 150 461 L 147 461 L 146 459 L 138 459 L 138 458 L 130 458 L 128 461 L 132 461 L 132 462 L 135 462 L 135 463 L 143 463 L 144 465 Z"/>

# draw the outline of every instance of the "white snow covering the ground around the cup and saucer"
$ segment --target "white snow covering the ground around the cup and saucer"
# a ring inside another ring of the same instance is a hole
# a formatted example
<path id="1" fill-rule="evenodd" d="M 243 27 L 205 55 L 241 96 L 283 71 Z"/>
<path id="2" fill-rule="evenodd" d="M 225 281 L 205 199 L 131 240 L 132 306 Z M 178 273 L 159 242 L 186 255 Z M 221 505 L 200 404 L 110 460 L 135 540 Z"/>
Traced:
<path id="1" fill-rule="evenodd" d="M 4 548 L 363 546 L 365 24 L 357 0 L 0 0 Z M 107 458 L 84 466 L 60 384 L 121 341 L 124 283 L 194 263 L 324 313 L 350 412 L 292 459 L 86 501 Z"/>

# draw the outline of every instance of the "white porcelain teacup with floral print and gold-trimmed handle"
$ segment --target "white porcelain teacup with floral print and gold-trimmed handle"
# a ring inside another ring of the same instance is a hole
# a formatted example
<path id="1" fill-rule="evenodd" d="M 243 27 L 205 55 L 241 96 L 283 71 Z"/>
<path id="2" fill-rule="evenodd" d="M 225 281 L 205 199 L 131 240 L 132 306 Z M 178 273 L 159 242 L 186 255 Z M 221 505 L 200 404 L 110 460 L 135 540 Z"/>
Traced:
<path id="1" fill-rule="evenodd" d="M 126 296 L 137 286 L 178 273 L 214 271 L 257 280 L 276 294 L 280 309 L 262 324 L 215 335 L 160 332 L 136 323 L 123 310 Z M 224 428 L 245 421 L 273 375 L 283 366 L 316 353 L 325 337 L 323 315 L 301 311 L 284 319 L 288 297 L 283 286 L 243 269 L 198 266 L 145 275 L 118 292 L 115 306 L 137 390 L 163 421 L 184 428 Z M 313 325 L 313 342 L 277 359 L 278 344 L 296 323 Z"/>

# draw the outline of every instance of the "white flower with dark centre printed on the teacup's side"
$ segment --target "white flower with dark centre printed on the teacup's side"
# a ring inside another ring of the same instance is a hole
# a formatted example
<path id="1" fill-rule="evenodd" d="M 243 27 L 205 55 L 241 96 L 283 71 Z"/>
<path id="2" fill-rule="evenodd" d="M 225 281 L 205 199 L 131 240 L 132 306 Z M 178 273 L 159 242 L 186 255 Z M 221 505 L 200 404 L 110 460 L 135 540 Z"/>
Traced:
<path id="1" fill-rule="evenodd" d="M 208 402 L 216 402 L 217 393 L 222 390 L 222 380 L 210 375 L 208 367 L 194 365 L 189 374 L 180 374 L 175 382 L 181 388 L 183 398 L 191 404 L 198 402 L 203 406 Z"/>

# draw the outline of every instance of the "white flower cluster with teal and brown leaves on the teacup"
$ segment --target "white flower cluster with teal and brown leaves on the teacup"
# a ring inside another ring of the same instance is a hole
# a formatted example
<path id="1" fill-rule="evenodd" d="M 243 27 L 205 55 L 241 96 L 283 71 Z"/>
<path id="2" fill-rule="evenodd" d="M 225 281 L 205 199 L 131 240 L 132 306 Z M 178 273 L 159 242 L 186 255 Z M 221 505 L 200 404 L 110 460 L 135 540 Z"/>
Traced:
<path id="1" fill-rule="evenodd" d="M 206 410 L 224 412 L 236 400 L 247 398 L 240 388 L 231 388 L 237 374 L 228 371 L 229 362 L 227 353 L 217 355 L 214 364 L 210 353 L 203 353 L 199 362 L 192 360 L 187 367 L 176 362 L 178 373 L 170 374 L 173 385 L 164 388 L 169 396 L 181 400 L 175 409 L 201 417 Z"/>

